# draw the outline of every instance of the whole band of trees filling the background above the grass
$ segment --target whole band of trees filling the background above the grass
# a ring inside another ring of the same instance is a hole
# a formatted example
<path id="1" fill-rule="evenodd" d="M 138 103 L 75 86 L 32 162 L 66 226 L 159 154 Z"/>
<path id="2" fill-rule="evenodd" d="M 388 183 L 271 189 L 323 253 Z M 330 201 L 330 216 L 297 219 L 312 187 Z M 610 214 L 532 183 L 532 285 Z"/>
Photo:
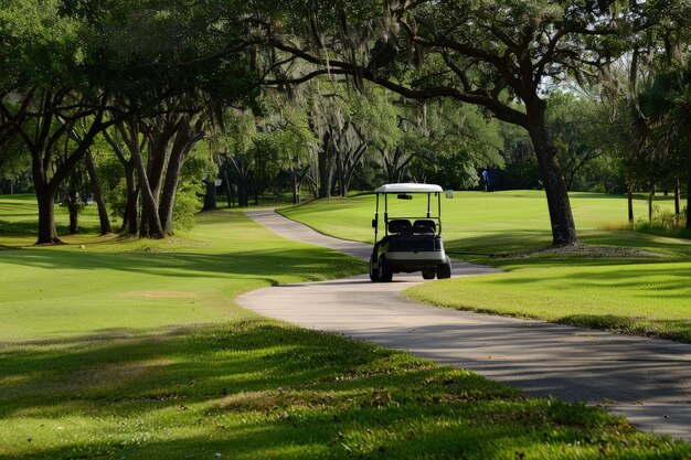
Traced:
<path id="1" fill-rule="evenodd" d="M 71 232 L 94 203 L 103 233 L 116 216 L 160 238 L 217 192 L 472 189 L 488 169 L 490 190 L 543 189 L 553 244 L 574 244 L 570 190 L 691 199 L 689 18 L 682 0 L 8 0 L 0 188 L 35 193 L 52 244 L 56 202 Z"/>

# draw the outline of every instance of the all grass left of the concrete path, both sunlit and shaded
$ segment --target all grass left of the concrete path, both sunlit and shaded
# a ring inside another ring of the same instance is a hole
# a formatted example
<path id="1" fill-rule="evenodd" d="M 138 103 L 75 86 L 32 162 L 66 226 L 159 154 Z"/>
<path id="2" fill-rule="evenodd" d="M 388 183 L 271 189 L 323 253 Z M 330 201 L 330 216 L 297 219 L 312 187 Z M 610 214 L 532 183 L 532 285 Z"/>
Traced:
<path id="1" fill-rule="evenodd" d="M 30 220 L 9 202 L 0 221 Z M 241 213 L 174 240 L 66 239 L 0 250 L 0 459 L 691 456 L 598 409 L 240 309 L 249 289 L 364 269 Z"/>

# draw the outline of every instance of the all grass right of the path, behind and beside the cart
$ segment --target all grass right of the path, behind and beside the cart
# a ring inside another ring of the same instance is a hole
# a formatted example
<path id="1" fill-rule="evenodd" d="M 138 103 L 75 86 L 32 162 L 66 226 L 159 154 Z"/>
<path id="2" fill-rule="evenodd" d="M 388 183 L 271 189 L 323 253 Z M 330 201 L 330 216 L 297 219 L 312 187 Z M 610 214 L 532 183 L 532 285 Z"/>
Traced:
<path id="1" fill-rule="evenodd" d="M 544 194 L 461 192 L 443 201 L 445 246 L 456 258 L 491 264 L 506 272 L 425 284 L 406 291 L 437 306 L 538 318 L 630 334 L 691 342 L 691 242 L 658 235 L 612 232 L 626 216 L 626 199 L 573 193 L 580 238 L 589 245 L 641 248 L 660 257 L 533 254 L 551 242 Z M 671 202 L 659 201 L 660 206 Z M 395 202 L 410 214 L 422 200 Z M 371 195 L 328 200 L 283 211 L 287 216 L 341 237 L 370 240 Z M 398 211 L 400 210 L 400 211 Z M 636 201 L 645 215 L 645 201 Z M 398 214 L 398 215 L 401 215 Z"/>

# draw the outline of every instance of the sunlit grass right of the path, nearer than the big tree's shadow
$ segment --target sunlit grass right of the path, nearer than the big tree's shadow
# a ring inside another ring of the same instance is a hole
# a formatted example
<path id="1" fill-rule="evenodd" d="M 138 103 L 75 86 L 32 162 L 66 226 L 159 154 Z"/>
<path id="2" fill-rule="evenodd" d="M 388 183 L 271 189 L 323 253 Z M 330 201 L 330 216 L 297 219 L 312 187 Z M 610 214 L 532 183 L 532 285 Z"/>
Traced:
<path id="1" fill-rule="evenodd" d="M 691 343 L 691 263 L 552 260 L 410 289 L 413 299 Z"/>

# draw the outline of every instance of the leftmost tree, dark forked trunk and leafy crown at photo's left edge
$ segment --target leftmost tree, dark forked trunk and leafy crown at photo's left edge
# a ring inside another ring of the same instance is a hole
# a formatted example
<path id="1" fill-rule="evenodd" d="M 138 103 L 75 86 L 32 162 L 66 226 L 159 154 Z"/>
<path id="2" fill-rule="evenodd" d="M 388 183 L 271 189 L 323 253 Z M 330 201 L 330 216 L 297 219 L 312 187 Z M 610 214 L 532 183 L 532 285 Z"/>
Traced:
<path id="1" fill-rule="evenodd" d="M 10 1 L 0 13 L 3 130 L 22 140 L 32 158 L 39 204 L 38 244 L 60 243 L 54 202 L 60 185 L 87 153 L 104 118 L 108 92 L 100 89 L 85 45 L 92 31 L 60 13 L 56 1 Z M 71 138 L 87 120 L 84 136 Z"/>

